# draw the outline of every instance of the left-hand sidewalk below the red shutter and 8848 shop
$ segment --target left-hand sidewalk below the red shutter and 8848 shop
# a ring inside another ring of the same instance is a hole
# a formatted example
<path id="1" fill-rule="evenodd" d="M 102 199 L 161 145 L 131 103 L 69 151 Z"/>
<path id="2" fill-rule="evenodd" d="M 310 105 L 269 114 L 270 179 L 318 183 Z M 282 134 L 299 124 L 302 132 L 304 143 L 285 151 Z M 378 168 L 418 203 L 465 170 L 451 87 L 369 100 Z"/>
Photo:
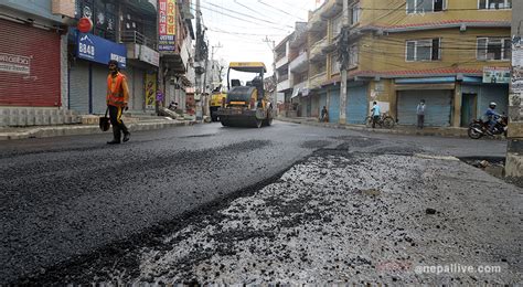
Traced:
<path id="1" fill-rule="evenodd" d="M 148 119 L 139 119 L 127 117 L 124 123 L 131 131 L 153 130 L 171 127 L 192 126 L 201 123 L 201 120 L 178 120 L 169 117 L 152 117 Z M 10 139 L 25 138 L 49 138 L 58 136 L 77 136 L 104 134 L 98 124 L 74 124 L 57 126 L 32 126 L 32 127 L 0 127 L 0 141 Z"/>

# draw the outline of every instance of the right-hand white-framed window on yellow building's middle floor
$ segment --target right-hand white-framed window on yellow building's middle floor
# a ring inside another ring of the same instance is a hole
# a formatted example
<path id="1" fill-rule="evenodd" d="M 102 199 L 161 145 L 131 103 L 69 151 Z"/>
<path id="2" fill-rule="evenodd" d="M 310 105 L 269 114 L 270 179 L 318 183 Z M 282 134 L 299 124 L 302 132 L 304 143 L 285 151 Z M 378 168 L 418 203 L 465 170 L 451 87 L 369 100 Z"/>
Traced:
<path id="1" fill-rule="evenodd" d="M 477 59 L 484 61 L 509 61 L 511 54 L 510 38 L 478 38 Z"/>

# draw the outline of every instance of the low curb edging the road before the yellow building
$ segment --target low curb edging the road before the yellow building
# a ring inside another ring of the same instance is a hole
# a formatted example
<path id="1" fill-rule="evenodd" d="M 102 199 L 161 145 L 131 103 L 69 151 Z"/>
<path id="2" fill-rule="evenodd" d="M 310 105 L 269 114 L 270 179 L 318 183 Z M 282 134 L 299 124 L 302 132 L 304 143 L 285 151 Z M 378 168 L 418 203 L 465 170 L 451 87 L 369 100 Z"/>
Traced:
<path id="1" fill-rule="evenodd" d="M 468 138 L 466 130 L 435 130 L 435 131 L 419 131 L 419 130 L 405 130 L 405 129 L 370 129 L 366 127 L 355 126 L 355 125 L 342 125 L 342 124 L 327 124 L 327 123 L 317 123 L 310 120 L 300 120 L 300 119 L 291 119 L 291 118 L 276 118 L 277 120 L 299 124 L 299 125 L 308 125 L 314 127 L 327 127 L 327 128 L 337 128 L 337 129 L 349 129 L 349 130 L 357 130 L 357 131 L 369 131 L 369 132 L 381 132 L 381 134 L 393 134 L 393 135 L 410 135 L 410 136 L 437 136 L 437 137 L 457 137 L 457 138 Z"/>

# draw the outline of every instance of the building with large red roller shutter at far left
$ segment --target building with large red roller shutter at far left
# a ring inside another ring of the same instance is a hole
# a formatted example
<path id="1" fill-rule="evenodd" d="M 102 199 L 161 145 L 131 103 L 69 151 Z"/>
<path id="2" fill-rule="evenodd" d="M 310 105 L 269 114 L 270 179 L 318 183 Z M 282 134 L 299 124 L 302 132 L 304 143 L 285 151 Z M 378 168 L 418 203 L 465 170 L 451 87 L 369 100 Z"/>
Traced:
<path id="1" fill-rule="evenodd" d="M 0 126 L 72 123 L 65 2 L 0 0 Z"/>

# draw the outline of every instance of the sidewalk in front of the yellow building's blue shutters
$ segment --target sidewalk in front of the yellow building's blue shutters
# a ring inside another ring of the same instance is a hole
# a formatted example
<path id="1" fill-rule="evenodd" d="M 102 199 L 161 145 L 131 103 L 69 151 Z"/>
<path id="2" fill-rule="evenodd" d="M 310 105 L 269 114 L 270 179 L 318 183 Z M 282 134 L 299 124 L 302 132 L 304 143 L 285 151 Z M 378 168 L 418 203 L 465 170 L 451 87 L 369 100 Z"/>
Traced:
<path id="1" fill-rule="evenodd" d="M 365 130 L 372 132 L 383 132 L 383 134 L 395 134 L 395 135 L 415 135 L 415 136 L 439 136 L 439 137 L 459 137 L 467 138 L 467 128 L 455 128 L 455 127 L 425 127 L 424 129 L 418 129 L 413 126 L 394 126 L 392 129 L 386 128 L 367 128 L 365 125 L 350 125 L 350 124 L 332 124 L 332 123 L 320 123 L 318 118 L 287 118 L 278 116 L 278 120 L 309 125 L 317 127 L 329 127 L 329 128 L 340 128 L 340 129 L 350 129 L 350 130 Z"/>

